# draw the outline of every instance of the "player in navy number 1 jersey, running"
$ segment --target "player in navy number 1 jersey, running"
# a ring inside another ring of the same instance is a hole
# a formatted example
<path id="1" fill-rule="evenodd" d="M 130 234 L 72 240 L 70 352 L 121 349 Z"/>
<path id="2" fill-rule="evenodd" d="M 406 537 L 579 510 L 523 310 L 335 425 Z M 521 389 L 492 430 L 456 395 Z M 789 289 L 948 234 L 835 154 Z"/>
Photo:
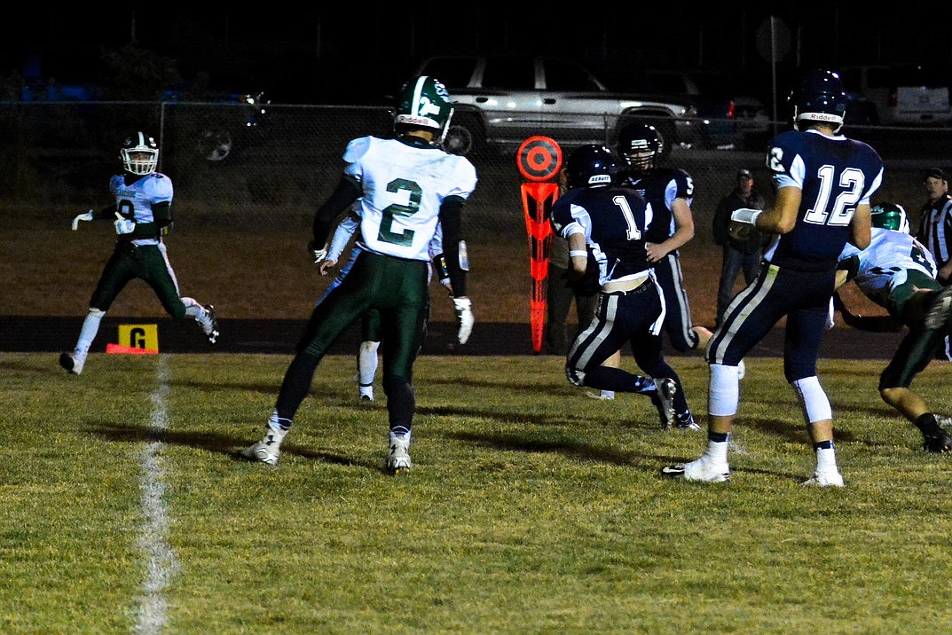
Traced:
<path id="1" fill-rule="evenodd" d="M 668 428 L 680 380 L 664 361 L 659 337 L 664 302 L 645 251 L 651 208 L 634 189 L 617 187 L 615 172 L 611 150 L 576 149 L 565 164 L 569 189 L 552 206 L 552 228 L 568 241 L 572 270 L 585 275 L 590 250 L 601 288 L 595 315 L 568 350 L 565 375 L 574 386 L 647 396 Z M 651 377 L 603 366 L 625 342 Z"/>

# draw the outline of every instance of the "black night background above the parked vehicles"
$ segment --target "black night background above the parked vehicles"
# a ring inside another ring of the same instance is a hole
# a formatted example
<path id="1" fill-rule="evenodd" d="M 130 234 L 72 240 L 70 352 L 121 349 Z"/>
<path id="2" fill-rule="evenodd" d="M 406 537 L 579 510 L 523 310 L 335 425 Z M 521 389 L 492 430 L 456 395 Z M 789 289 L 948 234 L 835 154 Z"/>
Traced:
<path id="1" fill-rule="evenodd" d="M 377 103 L 430 54 L 533 51 L 584 62 L 613 89 L 638 69 L 743 72 L 767 98 L 773 67 L 769 16 L 779 34 L 777 88 L 800 69 L 879 62 L 952 62 L 950 10 L 903 3 L 876 12 L 853 3 L 710 4 L 703 8 L 576 5 L 530 15 L 516 5 L 422 2 L 335 10 L 258 5 L 248 10 L 21 8 L 0 27 L 0 80 L 21 77 L 109 85 L 117 68 L 168 85 L 263 89 L 274 103 Z M 524 8 L 525 5 L 518 5 Z M 454 15 L 450 15 L 450 13 Z M 103 58 L 111 55 L 110 63 Z M 848 87 L 847 87 L 848 88 Z M 9 93 L 10 94 L 10 93 Z M 116 95 L 110 95 L 115 97 Z M 119 97 L 148 98 L 148 94 Z"/>

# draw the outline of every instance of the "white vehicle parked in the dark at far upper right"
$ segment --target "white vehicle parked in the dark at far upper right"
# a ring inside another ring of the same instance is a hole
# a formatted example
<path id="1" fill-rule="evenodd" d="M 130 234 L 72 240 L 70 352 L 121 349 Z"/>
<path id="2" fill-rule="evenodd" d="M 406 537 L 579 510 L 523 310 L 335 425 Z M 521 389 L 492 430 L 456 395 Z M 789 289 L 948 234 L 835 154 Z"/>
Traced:
<path id="1" fill-rule="evenodd" d="M 948 126 L 949 76 L 942 69 L 915 64 L 846 67 L 843 86 L 864 99 L 871 124 Z M 849 116 L 849 107 L 846 109 Z"/>

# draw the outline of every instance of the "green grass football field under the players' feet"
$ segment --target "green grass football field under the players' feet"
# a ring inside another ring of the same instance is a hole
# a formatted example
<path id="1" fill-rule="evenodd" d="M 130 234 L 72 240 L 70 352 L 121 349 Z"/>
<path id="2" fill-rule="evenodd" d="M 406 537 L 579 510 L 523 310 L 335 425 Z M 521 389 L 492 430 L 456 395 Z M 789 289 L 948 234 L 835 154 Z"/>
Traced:
<path id="1" fill-rule="evenodd" d="M 4 633 L 935 633 L 952 457 L 823 361 L 843 489 L 782 361 L 747 361 L 731 482 L 664 480 L 704 432 L 585 397 L 556 357 L 424 357 L 405 478 L 387 411 L 330 357 L 277 467 L 260 437 L 289 358 L 0 353 Z M 705 410 L 707 369 L 678 357 Z M 630 364 L 630 361 L 627 362 Z M 917 380 L 942 411 L 947 367 Z M 378 387 L 382 397 L 382 389 Z"/>

